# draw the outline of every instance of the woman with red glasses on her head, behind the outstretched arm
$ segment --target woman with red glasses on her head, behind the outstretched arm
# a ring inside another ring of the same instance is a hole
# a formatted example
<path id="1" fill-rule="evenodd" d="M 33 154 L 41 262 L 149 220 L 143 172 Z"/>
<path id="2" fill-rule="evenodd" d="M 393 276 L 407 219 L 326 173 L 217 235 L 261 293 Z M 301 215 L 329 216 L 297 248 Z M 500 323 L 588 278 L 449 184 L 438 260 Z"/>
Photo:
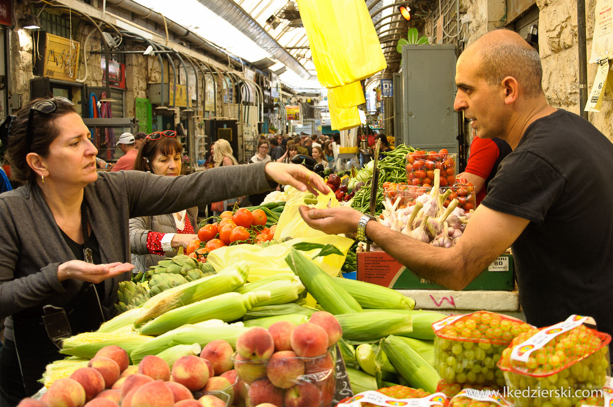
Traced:
<path id="1" fill-rule="evenodd" d="M 145 138 L 134 160 L 134 170 L 176 177 L 181 174 L 183 146 L 172 130 Z M 158 216 L 130 219 L 130 250 L 133 272 L 145 272 L 164 257 L 172 257 L 177 247 L 187 247 L 198 238 L 198 207 Z"/>

